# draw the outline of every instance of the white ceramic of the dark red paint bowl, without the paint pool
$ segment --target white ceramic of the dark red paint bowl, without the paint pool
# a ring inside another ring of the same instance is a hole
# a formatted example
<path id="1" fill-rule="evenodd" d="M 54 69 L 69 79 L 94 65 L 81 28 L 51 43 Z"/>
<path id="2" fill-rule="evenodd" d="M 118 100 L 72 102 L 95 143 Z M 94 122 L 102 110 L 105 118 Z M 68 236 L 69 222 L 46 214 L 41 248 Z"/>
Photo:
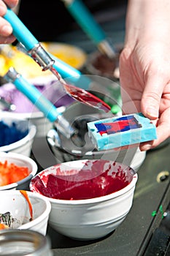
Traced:
<path id="1" fill-rule="evenodd" d="M 96 162 L 96 160 L 93 161 Z M 45 189 L 48 189 L 48 175 L 58 174 L 68 178 L 69 175 L 79 173 L 82 168 L 86 168 L 89 162 L 93 161 L 65 162 L 61 163 L 61 165 L 55 165 L 42 170 L 31 180 L 30 189 L 33 192 L 45 195 L 45 192 L 40 191 L 38 188 L 39 181 L 42 181 Z M 50 225 L 64 236 L 78 240 L 101 238 L 115 230 L 123 222 L 128 211 L 131 209 L 138 178 L 131 168 L 120 163 L 115 164 L 109 175 L 114 176 L 114 171 L 118 170 L 119 167 L 126 173 L 130 183 L 117 192 L 83 200 L 60 200 L 46 197 L 50 200 L 52 206 L 49 219 Z M 91 174 L 93 175 L 93 172 Z M 58 189 L 57 186 L 56 189 Z"/>

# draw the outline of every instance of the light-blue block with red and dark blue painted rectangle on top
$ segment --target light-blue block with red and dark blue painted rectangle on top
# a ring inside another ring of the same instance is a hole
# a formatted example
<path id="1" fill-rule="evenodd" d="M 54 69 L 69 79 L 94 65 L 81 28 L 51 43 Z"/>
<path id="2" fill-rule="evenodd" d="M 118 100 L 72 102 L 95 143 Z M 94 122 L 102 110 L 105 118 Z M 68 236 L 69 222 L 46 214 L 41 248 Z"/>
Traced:
<path id="1" fill-rule="evenodd" d="M 91 121 L 87 125 L 88 135 L 99 151 L 157 138 L 155 125 L 142 113 Z"/>

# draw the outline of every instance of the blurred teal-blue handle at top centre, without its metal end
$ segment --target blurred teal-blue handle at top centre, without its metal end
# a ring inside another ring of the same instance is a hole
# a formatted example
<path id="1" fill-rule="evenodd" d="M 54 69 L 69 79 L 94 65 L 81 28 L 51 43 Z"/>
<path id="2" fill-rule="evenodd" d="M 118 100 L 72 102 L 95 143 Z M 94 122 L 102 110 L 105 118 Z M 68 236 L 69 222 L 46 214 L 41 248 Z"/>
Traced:
<path id="1" fill-rule="evenodd" d="M 101 41 L 106 39 L 104 31 L 101 29 L 93 15 L 89 12 L 88 8 L 81 0 L 74 0 L 66 2 L 66 8 L 72 14 L 77 23 L 81 26 L 82 30 L 98 45 Z"/>

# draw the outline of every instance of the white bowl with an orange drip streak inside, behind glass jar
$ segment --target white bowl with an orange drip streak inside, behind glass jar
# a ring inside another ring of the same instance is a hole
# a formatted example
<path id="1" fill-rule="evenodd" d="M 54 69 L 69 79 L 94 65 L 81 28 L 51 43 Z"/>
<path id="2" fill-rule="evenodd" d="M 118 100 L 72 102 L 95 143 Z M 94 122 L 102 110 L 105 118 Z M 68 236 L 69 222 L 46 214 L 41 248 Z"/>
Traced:
<path id="1" fill-rule="evenodd" d="M 0 191 L 0 213 L 9 211 L 12 218 L 18 222 L 13 222 L 13 226 L 20 230 L 34 230 L 42 235 L 46 235 L 47 222 L 51 210 L 51 205 L 47 198 L 27 192 L 33 209 L 33 220 L 30 221 L 30 211 L 28 203 L 19 190 Z"/>

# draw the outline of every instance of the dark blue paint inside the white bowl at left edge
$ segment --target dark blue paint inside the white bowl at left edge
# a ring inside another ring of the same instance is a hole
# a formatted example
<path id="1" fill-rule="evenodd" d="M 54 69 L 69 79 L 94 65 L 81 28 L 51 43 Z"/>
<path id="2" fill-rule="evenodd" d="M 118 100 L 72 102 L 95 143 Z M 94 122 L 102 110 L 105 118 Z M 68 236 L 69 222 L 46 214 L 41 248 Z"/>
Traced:
<path id="1" fill-rule="evenodd" d="M 15 143 L 18 140 L 23 139 L 28 135 L 27 129 L 19 129 L 18 124 L 12 122 L 12 124 L 5 124 L 4 121 L 0 121 L 0 146 L 7 146 Z"/>

